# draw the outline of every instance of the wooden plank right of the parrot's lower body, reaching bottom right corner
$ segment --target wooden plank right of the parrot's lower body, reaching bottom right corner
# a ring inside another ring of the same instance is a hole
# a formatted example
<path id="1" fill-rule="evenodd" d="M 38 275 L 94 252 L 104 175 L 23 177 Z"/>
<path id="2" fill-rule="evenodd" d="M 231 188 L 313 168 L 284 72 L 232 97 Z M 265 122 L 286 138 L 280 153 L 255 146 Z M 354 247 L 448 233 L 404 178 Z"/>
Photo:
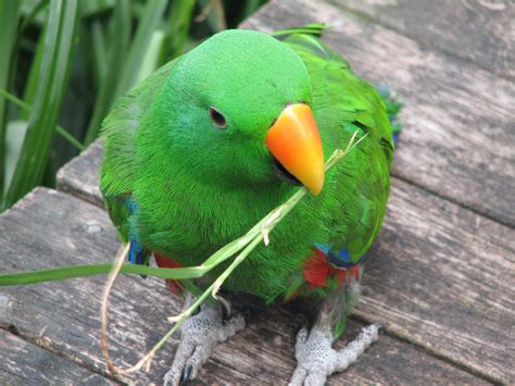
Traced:
<path id="1" fill-rule="evenodd" d="M 355 313 L 515 382 L 515 231 L 394 179 Z"/>

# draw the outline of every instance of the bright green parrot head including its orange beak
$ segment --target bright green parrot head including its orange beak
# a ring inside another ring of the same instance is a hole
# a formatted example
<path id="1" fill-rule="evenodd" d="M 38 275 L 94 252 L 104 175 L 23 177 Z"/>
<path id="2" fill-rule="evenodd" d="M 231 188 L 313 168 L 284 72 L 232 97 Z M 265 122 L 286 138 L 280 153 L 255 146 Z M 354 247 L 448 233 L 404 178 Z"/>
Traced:
<path id="1" fill-rule="evenodd" d="M 174 158 L 197 178 L 231 188 L 285 182 L 318 195 L 324 154 L 307 70 L 262 33 L 226 30 L 179 59 L 159 109 Z"/>

